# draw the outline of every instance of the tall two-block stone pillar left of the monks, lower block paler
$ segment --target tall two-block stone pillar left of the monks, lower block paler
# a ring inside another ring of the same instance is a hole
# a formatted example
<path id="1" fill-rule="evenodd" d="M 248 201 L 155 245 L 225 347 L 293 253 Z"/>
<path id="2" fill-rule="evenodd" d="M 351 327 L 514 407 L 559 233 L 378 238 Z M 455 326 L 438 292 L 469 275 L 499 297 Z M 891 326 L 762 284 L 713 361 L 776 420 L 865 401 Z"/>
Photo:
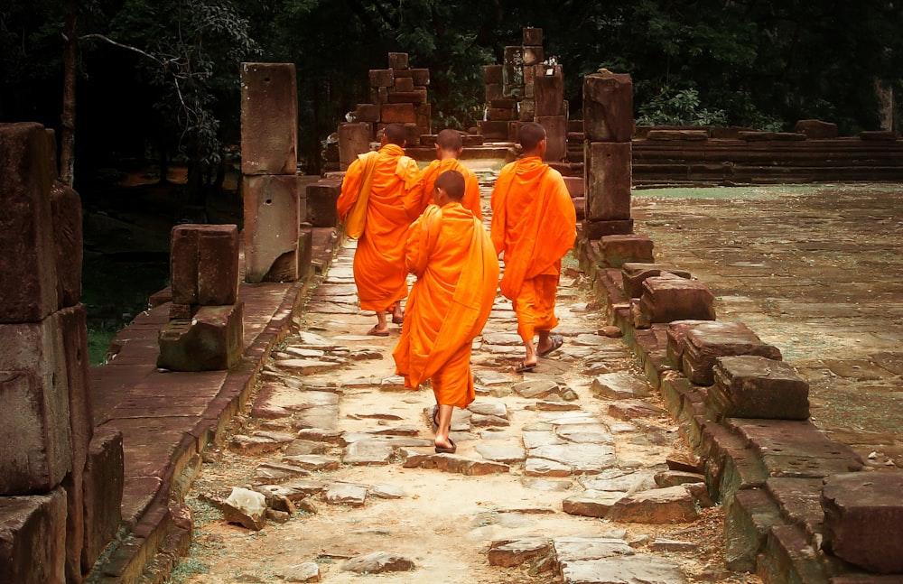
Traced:
<path id="1" fill-rule="evenodd" d="M 298 99 L 292 63 L 242 63 L 241 171 L 245 279 L 297 280 Z M 286 256 L 287 260 L 286 260 Z M 276 261 L 280 265 L 276 266 Z"/>

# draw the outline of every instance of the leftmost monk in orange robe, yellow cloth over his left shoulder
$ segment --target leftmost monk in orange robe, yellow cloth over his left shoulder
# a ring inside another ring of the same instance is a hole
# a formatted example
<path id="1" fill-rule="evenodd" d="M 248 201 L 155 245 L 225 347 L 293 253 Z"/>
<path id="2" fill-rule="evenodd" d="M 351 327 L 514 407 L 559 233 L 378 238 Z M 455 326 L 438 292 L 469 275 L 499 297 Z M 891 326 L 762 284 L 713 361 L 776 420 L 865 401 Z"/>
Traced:
<path id="1" fill-rule="evenodd" d="M 386 337 L 386 312 L 392 312 L 392 322 L 404 322 L 405 236 L 411 224 L 405 213 L 405 195 L 419 170 L 417 163 L 405 156 L 404 125 L 386 125 L 380 144 L 377 152 L 360 154 L 351 162 L 336 206 L 344 223 L 358 198 L 366 198 L 366 223 L 354 254 L 354 283 L 360 308 L 377 313 L 377 324 L 367 334 Z M 367 187 L 368 192 L 363 193 Z"/>

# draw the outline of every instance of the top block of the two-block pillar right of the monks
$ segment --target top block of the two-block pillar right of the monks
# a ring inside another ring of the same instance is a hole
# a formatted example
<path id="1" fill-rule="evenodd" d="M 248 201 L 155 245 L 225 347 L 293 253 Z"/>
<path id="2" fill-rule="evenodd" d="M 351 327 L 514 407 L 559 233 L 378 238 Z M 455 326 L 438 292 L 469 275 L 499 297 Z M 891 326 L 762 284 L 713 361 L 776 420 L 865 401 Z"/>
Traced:
<path id="1" fill-rule="evenodd" d="M 633 80 L 627 73 L 603 71 L 583 78 L 583 127 L 591 142 L 630 142 Z"/>

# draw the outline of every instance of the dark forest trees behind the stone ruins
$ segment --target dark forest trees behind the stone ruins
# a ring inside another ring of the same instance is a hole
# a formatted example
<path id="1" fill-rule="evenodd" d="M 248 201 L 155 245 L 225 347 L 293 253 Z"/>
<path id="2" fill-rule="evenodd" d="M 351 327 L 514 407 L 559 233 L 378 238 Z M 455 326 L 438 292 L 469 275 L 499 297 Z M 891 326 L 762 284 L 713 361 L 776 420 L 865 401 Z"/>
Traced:
<path id="1" fill-rule="evenodd" d="M 526 26 L 563 65 L 572 112 L 582 76 L 604 67 L 633 77 L 640 123 L 818 118 L 850 135 L 880 129 L 876 87 L 903 79 L 903 9 L 889 0 L 0 0 L 0 121 L 61 129 L 73 40 L 76 188 L 180 162 L 203 200 L 238 142 L 241 61 L 295 63 L 299 150 L 316 173 L 387 52 L 431 71 L 434 128 L 467 128 L 482 65 Z"/>

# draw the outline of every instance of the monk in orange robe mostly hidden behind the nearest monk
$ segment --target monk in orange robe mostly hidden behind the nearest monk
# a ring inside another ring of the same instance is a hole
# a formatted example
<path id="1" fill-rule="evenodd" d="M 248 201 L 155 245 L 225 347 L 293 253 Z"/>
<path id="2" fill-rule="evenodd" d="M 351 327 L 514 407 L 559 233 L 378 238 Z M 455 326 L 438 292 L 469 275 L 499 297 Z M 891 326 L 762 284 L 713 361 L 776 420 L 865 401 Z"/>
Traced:
<path id="1" fill-rule="evenodd" d="M 405 208 L 408 216 L 420 217 L 427 205 L 433 204 L 433 189 L 438 177 L 444 171 L 459 171 L 464 175 L 464 198 L 461 205 L 469 209 L 475 218 L 483 219 L 483 211 L 479 207 L 479 181 L 477 175 L 464 166 L 458 158 L 464 150 L 461 132 L 446 128 L 436 135 L 436 159 L 421 171 L 414 183 L 414 189 L 408 193 Z"/>

